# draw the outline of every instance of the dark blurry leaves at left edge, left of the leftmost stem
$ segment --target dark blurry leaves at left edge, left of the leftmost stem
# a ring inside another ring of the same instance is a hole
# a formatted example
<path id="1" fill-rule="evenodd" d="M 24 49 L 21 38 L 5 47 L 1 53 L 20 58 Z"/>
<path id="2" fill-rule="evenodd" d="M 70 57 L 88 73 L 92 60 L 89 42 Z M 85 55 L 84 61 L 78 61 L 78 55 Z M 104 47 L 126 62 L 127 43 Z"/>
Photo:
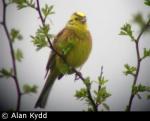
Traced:
<path id="1" fill-rule="evenodd" d="M 0 70 L 0 78 L 6 77 L 6 78 L 10 78 L 13 75 L 13 70 L 6 70 L 5 68 L 2 68 Z"/>

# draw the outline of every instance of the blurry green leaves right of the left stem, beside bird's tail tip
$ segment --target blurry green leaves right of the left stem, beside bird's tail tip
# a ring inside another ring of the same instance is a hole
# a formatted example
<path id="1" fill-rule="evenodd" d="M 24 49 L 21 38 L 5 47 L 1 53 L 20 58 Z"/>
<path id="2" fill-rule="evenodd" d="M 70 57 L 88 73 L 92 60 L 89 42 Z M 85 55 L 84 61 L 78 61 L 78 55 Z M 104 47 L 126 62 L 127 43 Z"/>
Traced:
<path id="1" fill-rule="evenodd" d="M 23 86 L 23 93 L 25 94 L 28 94 L 28 93 L 36 93 L 37 92 L 37 86 L 36 85 L 28 85 L 28 84 L 25 84 Z"/>

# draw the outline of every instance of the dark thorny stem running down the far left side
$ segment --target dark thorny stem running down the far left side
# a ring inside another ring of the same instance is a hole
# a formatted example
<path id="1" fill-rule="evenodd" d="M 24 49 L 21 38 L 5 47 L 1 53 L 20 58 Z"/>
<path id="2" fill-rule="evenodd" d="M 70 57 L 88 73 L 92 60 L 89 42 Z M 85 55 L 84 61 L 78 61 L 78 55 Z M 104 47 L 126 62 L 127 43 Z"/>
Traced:
<path id="1" fill-rule="evenodd" d="M 20 110 L 20 104 L 21 104 L 21 90 L 20 90 L 19 81 L 18 81 L 18 78 L 17 78 L 17 69 L 16 69 L 16 61 L 15 61 L 14 48 L 13 48 L 12 40 L 11 40 L 11 37 L 9 35 L 9 31 L 8 31 L 7 24 L 6 24 L 7 4 L 5 3 L 5 0 L 2 0 L 2 3 L 3 3 L 3 20 L 1 22 L 1 24 L 4 27 L 6 36 L 8 38 L 9 47 L 10 47 L 10 53 L 11 53 L 11 59 L 12 59 L 12 66 L 13 66 L 13 75 L 12 75 L 12 78 L 13 78 L 13 80 L 15 82 L 16 90 L 17 90 L 17 106 L 16 106 L 16 111 L 19 111 Z"/>

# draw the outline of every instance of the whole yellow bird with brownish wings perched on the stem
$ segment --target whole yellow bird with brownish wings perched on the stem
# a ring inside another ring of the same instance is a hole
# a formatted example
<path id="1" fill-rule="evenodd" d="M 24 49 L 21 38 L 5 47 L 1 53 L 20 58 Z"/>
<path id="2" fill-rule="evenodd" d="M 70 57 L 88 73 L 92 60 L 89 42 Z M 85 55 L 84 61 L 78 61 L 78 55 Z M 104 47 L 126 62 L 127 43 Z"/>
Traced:
<path id="1" fill-rule="evenodd" d="M 68 65 L 73 68 L 81 67 L 88 59 L 92 49 L 92 38 L 88 30 L 86 15 L 82 12 L 73 13 L 64 29 L 54 38 L 52 44 L 58 53 L 64 55 Z M 55 52 L 51 52 L 46 66 L 46 83 L 35 108 L 45 108 L 56 79 L 62 78 L 65 74 L 73 73 L 67 64 Z"/>

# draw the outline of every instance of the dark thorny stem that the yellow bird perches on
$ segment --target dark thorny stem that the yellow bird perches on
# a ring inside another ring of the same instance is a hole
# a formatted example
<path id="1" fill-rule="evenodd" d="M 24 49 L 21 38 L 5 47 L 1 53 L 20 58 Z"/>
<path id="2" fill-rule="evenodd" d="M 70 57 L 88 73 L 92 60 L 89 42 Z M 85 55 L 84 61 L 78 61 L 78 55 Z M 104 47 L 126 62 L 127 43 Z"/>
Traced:
<path id="1" fill-rule="evenodd" d="M 42 16 L 42 13 L 41 13 L 41 10 L 40 10 L 40 3 L 39 3 L 39 0 L 36 0 L 37 2 L 37 7 L 36 7 L 36 10 L 39 14 L 39 17 L 41 19 L 41 22 L 42 22 L 42 25 L 45 26 L 45 20 Z M 53 47 L 53 44 L 51 43 L 50 39 L 48 36 L 46 36 L 47 40 L 48 40 L 48 43 L 49 43 L 49 46 L 51 48 L 52 51 L 54 51 L 69 67 L 71 67 L 65 60 L 64 56 L 61 55 L 60 53 L 58 53 L 55 48 Z M 81 72 L 77 71 L 75 68 L 71 67 L 72 71 L 83 81 L 83 83 L 86 85 L 85 83 L 85 78 L 82 76 Z M 92 95 L 91 95 L 91 91 L 90 91 L 90 88 L 87 87 L 86 85 L 86 88 L 87 88 L 87 93 L 88 93 L 88 99 L 90 100 L 91 104 L 92 104 L 92 107 L 93 107 L 93 110 L 96 112 L 98 111 L 98 108 L 97 108 L 97 105 L 94 101 L 94 99 L 92 98 Z"/>

